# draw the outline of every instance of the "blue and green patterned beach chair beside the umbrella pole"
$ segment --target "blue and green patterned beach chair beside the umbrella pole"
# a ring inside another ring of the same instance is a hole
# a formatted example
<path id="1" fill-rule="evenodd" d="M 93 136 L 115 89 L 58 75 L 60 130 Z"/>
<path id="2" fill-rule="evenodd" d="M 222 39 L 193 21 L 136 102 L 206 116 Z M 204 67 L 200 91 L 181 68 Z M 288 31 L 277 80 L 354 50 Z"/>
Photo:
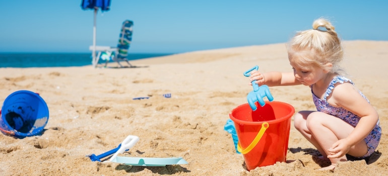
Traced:
<path id="1" fill-rule="evenodd" d="M 130 20 L 125 20 L 122 23 L 121 32 L 116 47 L 96 46 L 97 56 L 92 61 L 94 67 L 97 67 L 100 61 L 105 61 L 104 67 L 106 67 L 110 61 L 117 62 L 119 67 L 123 67 L 120 62 L 125 61 L 130 67 L 133 67 L 127 58 L 128 49 L 130 48 L 132 42 L 133 26 L 134 22 Z M 89 50 L 93 51 L 93 46 L 90 46 Z"/>

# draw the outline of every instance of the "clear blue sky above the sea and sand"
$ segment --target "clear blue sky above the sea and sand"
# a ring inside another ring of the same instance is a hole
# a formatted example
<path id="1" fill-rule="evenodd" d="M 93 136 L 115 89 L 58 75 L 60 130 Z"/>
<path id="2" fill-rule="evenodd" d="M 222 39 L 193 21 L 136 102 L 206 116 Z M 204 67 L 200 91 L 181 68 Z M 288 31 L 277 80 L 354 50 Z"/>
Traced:
<path id="1" fill-rule="evenodd" d="M 90 52 L 93 11 L 81 0 L 2 1 L 0 52 Z M 115 46 L 134 21 L 131 53 L 181 53 L 287 42 L 326 17 L 343 40 L 388 41 L 388 1 L 112 0 L 97 45 Z"/>

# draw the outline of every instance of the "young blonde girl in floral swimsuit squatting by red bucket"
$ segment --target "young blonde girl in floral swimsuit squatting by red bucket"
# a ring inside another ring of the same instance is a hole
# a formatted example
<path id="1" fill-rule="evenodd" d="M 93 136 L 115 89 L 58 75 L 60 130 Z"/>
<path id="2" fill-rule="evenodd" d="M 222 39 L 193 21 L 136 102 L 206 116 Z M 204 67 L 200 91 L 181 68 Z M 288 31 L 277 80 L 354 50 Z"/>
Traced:
<path id="1" fill-rule="evenodd" d="M 341 75 L 340 39 L 332 24 L 317 19 L 312 29 L 298 32 L 287 44 L 293 72 L 252 71 L 250 81 L 259 85 L 307 85 L 317 111 L 300 111 L 295 128 L 322 154 L 334 169 L 346 155 L 370 156 L 381 136 L 378 114 L 354 83 Z"/>

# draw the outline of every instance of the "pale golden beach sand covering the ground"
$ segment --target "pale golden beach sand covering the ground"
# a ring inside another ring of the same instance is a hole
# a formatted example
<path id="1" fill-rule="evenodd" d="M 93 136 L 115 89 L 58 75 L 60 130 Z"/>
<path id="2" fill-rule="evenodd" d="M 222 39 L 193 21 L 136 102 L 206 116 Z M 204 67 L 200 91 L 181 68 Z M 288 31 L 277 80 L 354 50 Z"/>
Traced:
<path id="1" fill-rule="evenodd" d="M 263 72 L 291 71 L 285 45 L 271 44 L 132 61 L 136 68 L 0 68 L 0 102 L 29 90 L 40 94 L 50 113 L 42 135 L 18 139 L 0 134 L 0 175 L 385 175 L 388 42 L 343 45 L 343 66 L 380 117 L 380 145 L 367 160 L 314 171 L 330 163 L 317 159 L 317 150 L 291 120 L 287 161 L 246 170 L 224 125 L 252 91 L 244 71 L 254 65 Z M 307 86 L 270 90 L 276 101 L 295 111 L 315 109 Z M 171 98 L 163 97 L 167 93 Z M 133 100 L 137 97 L 149 99 Z M 86 156 L 113 149 L 128 135 L 140 140 L 121 156 L 183 157 L 188 164 L 131 166 L 92 162 Z"/>

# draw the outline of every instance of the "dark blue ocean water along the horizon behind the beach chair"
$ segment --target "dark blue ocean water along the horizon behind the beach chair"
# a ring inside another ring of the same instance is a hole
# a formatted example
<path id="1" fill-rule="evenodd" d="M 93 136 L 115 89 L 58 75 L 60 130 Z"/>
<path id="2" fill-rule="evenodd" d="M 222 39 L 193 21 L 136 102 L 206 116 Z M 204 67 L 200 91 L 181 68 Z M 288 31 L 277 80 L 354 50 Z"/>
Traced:
<path id="1" fill-rule="evenodd" d="M 130 53 L 127 58 L 128 60 L 137 60 L 171 54 Z M 105 61 L 102 62 L 105 63 Z M 92 65 L 91 53 L 0 53 L 0 67 L 26 68 L 85 65 Z"/>

